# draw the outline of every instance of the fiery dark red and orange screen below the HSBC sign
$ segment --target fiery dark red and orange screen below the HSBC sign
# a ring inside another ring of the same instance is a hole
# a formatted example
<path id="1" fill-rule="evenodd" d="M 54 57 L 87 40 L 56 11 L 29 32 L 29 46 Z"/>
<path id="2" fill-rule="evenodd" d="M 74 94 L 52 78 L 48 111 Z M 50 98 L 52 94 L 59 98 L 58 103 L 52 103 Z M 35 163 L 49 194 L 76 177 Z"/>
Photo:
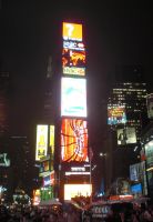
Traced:
<path id="1" fill-rule="evenodd" d="M 63 49 L 62 65 L 84 68 L 85 67 L 85 51 Z"/>

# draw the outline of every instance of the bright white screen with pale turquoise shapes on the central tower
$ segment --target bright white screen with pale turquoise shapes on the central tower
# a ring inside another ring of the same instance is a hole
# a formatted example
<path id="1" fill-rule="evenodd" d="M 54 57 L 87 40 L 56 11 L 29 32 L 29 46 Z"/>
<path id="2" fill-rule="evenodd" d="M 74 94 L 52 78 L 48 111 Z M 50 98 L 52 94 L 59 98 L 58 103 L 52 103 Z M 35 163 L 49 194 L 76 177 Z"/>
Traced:
<path id="1" fill-rule="evenodd" d="M 61 115 L 86 118 L 85 79 L 61 79 Z"/>

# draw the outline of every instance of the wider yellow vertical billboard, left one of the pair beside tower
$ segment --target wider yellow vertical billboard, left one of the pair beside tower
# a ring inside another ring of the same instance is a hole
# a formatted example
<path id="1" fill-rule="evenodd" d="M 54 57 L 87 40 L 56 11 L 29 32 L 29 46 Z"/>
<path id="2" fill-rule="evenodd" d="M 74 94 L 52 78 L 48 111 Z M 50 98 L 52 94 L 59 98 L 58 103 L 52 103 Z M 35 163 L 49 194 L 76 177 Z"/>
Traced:
<path id="1" fill-rule="evenodd" d="M 37 125 L 35 160 L 45 157 L 48 152 L 48 125 Z"/>

